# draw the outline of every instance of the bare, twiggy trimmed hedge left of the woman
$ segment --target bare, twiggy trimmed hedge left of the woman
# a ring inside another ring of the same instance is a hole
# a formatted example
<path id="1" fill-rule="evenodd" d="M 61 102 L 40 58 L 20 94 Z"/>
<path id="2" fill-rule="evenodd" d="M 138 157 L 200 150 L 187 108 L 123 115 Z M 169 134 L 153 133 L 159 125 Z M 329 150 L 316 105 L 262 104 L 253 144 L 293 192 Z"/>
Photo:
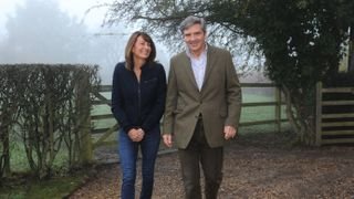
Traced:
<path id="1" fill-rule="evenodd" d="M 90 93 L 98 87 L 97 70 L 97 65 L 0 65 L 0 178 L 11 172 L 13 137 L 23 144 L 38 178 L 53 174 L 60 150 L 67 151 L 69 168 L 87 159 L 83 138 L 90 133 Z"/>

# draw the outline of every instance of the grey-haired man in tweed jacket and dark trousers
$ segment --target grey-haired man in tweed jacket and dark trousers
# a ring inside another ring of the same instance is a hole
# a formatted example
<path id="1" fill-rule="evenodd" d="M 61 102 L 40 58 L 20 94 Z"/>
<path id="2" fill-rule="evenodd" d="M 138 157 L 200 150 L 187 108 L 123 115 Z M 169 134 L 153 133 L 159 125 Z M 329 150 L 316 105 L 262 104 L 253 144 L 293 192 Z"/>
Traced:
<path id="1" fill-rule="evenodd" d="M 222 179 L 223 145 L 237 135 L 241 88 L 231 54 L 206 43 L 205 20 L 180 24 L 187 45 L 170 60 L 164 117 L 164 143 L 178 148 L 186 198 L 217 198 Z"/>

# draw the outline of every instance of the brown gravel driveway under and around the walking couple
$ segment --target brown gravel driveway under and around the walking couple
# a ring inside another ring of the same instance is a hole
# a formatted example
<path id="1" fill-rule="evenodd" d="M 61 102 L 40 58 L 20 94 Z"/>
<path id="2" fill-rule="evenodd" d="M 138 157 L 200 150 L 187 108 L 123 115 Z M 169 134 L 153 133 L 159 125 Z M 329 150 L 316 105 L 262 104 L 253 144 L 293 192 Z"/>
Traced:
<path id="1" fill-rule="evenodd" d="M 354 145 L 289 147 L 287 139 L 260 134 L 228 145 L 219 198 L 354 198 Z M 119 177 L 118 164 L 98 166 L 70 198 L 119 198 Z M 139 190 L 139 177 L 136 186 Z M 158 157 L 153 198 L 184 198 L 176 153 Z"/>

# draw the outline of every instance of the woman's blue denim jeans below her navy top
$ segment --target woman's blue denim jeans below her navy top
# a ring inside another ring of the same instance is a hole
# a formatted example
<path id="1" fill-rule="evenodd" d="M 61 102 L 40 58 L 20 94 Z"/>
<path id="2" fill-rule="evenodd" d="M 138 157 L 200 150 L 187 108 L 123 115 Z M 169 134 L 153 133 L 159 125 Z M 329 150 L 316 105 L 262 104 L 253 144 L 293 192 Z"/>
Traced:
<path id="1" fill-rule="evenodd" d="M 142 142 L 132 142 L 123 129 L 119 134 L 119 159 L 123 171 L 122 199 L 135 198 L 136 161 L 138 149 L 142 150 L 142 175 L 143 184 L 140 199 L 149 199 L 153 195 L 155 160 L 160 142 L 159 126 L 145 133 Z"/>

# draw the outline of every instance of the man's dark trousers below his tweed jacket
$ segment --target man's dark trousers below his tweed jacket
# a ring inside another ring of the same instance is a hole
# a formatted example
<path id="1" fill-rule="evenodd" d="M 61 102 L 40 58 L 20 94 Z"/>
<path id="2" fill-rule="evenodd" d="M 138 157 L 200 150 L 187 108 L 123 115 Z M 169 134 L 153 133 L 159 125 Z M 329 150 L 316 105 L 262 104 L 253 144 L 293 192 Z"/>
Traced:
<path id="1" fill-rule="evenodd" d="M 201 118 L 186 149 L 178 149 L 187 199 L 201 199 L 200 166 L 205 176 L 206 199 L 216 199 L 222 180 L 223 148 L 209 147 Z"/>

